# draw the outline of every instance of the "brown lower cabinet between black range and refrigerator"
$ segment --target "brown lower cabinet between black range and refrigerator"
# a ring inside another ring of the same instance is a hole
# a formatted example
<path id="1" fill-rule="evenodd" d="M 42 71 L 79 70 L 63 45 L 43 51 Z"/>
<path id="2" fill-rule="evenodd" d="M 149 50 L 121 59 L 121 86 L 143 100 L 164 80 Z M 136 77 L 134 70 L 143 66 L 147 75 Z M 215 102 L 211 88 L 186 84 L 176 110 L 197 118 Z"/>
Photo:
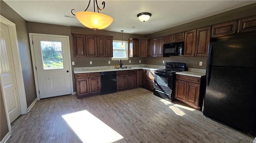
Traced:
<path id="1" fill-rule="evenodd" d="M 193 108 L 200 109 L 202 106 L 203 89 L 205 87 L 204 79 L 177 74 L 175 99 Z"/>

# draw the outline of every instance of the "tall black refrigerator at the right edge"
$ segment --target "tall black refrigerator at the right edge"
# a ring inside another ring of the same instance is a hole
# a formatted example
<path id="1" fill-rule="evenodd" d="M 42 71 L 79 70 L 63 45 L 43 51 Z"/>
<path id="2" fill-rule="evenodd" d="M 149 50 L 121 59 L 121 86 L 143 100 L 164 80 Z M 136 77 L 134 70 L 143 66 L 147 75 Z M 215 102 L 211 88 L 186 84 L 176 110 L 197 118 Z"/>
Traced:
<path id="1" fill-rule="evenodd" d="M 256 37 L 210 42 L 206 117 L 256 136 Z"/>

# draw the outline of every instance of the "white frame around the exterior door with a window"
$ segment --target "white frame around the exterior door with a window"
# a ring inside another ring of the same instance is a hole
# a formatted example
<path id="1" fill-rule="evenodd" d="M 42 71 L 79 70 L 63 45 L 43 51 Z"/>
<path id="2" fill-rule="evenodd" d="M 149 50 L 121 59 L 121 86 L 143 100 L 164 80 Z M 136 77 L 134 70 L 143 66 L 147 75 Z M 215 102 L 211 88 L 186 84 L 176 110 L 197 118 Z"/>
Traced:
<path id="1" fill-rule="evenodd" d="M 70 43 L 69 43 L 69 36 L 65 35 L 52 35 L 52 34 L 40 34 L 40 33 L 28 33 L 29 34 L 29 41 L 30 41 L 30 50 L 31 50 L 31 57 L 32 57 L 32 64 L 33 64 L 33 72 L 34 72 L 34 79 L 36 83 L 36 96 L 37 100 L 40 100 L 40 94 L 39 94 L 39 85 L 38 85 L 38 78 L 37 78 L 37 72 L 36 72 L 36 57 L 34 53 L 34 45 L 32 41 L 32 36 L 47 36 L 47 37 L 60 37 L 60 38 L 66 38 L 67 44 L 68 44 L 68 62 L 69 62 L 69 74 L 70 74 L 70 84 L 71 84 L 71 94 L 74 95 L 74 89 L 73 89 L 73 78 L 72 78 L 72 67 L 71 67 L 71 57 L 70 57 Z"/>

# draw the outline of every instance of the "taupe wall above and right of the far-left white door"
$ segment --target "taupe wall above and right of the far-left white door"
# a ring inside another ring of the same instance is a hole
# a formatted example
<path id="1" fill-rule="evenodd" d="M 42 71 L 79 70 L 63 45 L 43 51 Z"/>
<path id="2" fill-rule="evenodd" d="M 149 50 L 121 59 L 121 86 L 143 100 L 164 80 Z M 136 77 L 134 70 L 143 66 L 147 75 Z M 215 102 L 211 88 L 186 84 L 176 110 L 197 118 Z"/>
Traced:
<path id="1" fill-rule="evenodd" d="M 28 31 L 26 21 L 10 8 L 4 1 L 0 1 L 1 15 L 16 24 L 18 47 L 20 52 L 20 61 L 22 67 L 22 75 L 26 93 L 27 106 L 29 107 L 36 99 L 36 89 L 34 82 L 34 74 L 32 70 L 32 61 L 30 55 L 30 47 L 28 43 Z"/>

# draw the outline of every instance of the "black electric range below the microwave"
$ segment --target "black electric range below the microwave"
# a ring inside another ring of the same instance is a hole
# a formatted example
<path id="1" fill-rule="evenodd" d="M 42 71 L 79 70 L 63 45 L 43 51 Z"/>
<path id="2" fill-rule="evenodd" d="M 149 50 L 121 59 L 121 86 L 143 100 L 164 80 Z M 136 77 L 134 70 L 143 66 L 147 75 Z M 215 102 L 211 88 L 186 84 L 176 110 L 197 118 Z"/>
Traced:
<path id="1" fill-rule="evenodd" d="M 156 70 L 154 74 L 154 95 L 174 101 L 176 72 L 186 71 L 186 63 L 167 62 L 166 69 Z"/>

